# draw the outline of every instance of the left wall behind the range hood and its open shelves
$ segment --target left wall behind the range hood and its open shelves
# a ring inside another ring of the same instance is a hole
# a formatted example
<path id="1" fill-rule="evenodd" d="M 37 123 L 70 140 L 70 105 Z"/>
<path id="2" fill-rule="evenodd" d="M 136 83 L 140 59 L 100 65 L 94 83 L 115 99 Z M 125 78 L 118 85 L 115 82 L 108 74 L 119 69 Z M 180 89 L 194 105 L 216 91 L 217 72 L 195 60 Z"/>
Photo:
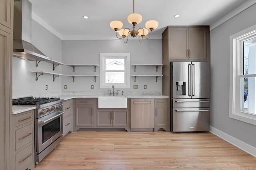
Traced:
<path id="1" fill-rule="evenodd" d="M 32 44 L 47 57 L 61 62 L 62 41 L 34 20 L 32 20 Z M 61 66 L 56 66 L 53 71 L 50 63 L 42 61 L 36 67 L 35 61 L 26 61 L 16 57 L 13 57 L 12 65 L 12 98 L 35 96 L 36 94 L 48 95 L 48 93 L 61 91 L 60 77 L 55 78 L 53 82 L 52 75 L 45 74 L 36 81 L 36 74 L 31 73 L 32 70 L 61 73 Z M 45 90 L 46 84 L 48 90 Z"/>

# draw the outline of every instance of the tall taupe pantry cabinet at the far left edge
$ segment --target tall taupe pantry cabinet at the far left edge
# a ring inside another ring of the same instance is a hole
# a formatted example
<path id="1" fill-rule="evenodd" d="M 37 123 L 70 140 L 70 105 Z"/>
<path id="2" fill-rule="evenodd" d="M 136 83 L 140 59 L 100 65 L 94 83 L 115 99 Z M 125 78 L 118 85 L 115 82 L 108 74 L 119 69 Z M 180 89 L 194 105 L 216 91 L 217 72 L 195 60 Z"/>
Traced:
<path id="1" fill-rule="evenodd" d="M 13 0 L 0 0 L 0 165 L 10 170 Z"/>

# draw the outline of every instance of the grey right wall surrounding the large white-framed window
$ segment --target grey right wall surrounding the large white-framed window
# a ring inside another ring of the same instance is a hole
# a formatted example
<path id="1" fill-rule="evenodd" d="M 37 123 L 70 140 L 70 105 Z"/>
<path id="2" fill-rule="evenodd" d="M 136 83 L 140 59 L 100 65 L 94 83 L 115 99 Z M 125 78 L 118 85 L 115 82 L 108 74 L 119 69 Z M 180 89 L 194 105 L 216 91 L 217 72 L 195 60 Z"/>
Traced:
<path id="1" fill-rule="evenodd" d="M 211 127 L 256 147 L 256 127 L 229 118 L 229 37 L 256 24 L 256 4 L 211 30 Z"/>

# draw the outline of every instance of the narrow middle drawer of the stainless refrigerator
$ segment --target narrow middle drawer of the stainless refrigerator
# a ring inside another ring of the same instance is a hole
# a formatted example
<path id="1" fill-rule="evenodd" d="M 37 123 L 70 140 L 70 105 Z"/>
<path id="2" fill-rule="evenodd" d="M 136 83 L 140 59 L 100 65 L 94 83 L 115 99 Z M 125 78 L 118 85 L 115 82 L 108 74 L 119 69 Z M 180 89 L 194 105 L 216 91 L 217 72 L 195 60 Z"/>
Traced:
<path id="1" fill-rule="evenodd" d="M 173 108 L 210 107 L 209 99 L 172 99 Z"/>

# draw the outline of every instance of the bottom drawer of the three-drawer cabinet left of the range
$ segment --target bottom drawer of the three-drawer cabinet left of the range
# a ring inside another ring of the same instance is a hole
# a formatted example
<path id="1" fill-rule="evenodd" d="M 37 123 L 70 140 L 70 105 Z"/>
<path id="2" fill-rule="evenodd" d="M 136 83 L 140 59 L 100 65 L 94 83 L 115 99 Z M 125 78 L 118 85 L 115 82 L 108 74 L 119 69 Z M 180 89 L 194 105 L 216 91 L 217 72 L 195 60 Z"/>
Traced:
<path id="1" fill-rule="evenodd" d="M 16 170 L 25 168 L 33 160 L 33 145 L 29 145 L 15 155 Z"/>

